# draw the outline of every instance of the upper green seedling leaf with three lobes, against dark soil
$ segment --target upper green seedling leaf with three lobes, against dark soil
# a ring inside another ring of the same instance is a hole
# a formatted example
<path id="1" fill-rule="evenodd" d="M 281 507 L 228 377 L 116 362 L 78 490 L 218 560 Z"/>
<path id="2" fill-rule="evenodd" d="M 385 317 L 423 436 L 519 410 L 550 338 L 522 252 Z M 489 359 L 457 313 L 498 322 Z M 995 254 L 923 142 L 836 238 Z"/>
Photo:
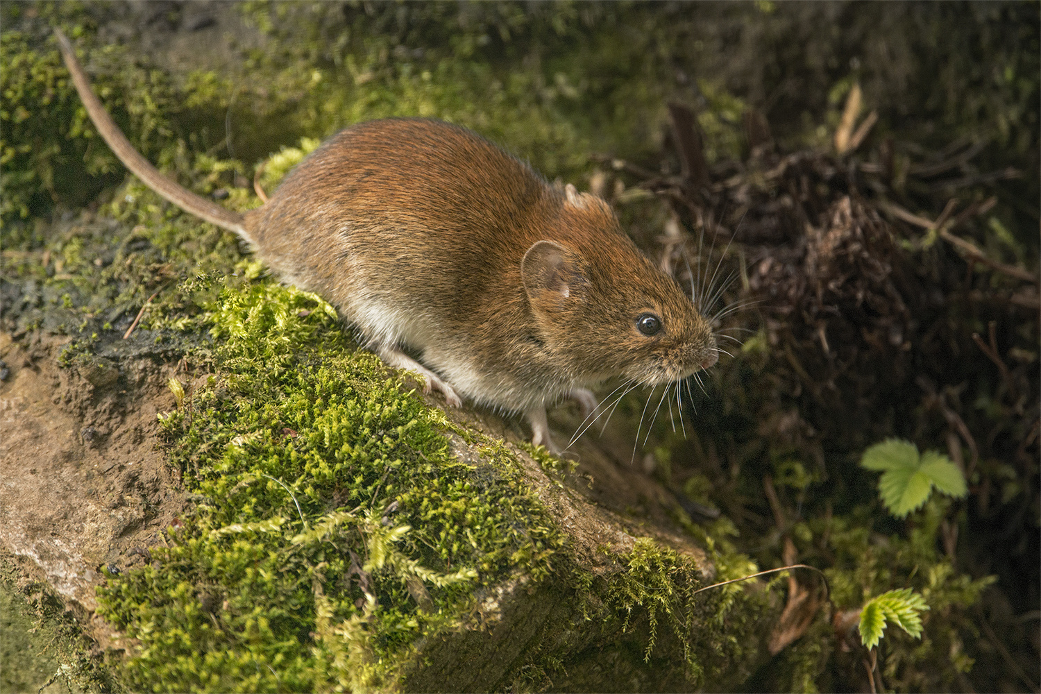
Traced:
<path id="1" fill-rule="evenodd" d="M 887 439 L 864 452 L 861 467 L 879 470 L 879 495 L 889 512 L 904 518 L 920 507 L 936 487 L 956 498 L 968 493 L 965 477 L 946 456 L 918 447 L 909 441 Z"/>

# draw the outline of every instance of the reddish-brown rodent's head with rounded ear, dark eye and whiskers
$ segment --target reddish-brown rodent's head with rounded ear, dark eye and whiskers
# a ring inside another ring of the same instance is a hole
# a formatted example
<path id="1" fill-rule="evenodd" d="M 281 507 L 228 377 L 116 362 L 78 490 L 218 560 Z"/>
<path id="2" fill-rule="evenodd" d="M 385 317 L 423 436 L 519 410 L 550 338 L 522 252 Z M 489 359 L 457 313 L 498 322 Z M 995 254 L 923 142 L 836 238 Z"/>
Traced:
<path id="1" fill-rule="evenodd" d="M 545 349 L 589 381 L 621 376 L 659 385 L 712 366 L 719 352 L 709 322 L 593 200 L 565 215 L 566 232 L 554 234 L 560 240 L 537 241 L 522 262 Z M 587 225 L 593 233 L 583 233 Z"/>

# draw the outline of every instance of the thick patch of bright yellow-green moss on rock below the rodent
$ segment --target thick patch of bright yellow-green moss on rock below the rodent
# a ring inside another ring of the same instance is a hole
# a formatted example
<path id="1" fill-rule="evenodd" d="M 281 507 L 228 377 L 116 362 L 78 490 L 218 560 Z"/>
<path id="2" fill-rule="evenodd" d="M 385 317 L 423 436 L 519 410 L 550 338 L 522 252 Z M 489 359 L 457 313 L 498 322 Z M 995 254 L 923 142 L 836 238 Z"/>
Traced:
<path id="1" fill-rule="evenodd" d="M 141 642 L 133 687 L 384 687 L 475 588 L 551 569 L 561 539 L 505 449 L 480 472 L 460 462 L 443 414 L 356 352 L 327 304 L 261 283 L 202 322 L 217 371 L 163 418 L 201 503 L 100 590 Z"/>

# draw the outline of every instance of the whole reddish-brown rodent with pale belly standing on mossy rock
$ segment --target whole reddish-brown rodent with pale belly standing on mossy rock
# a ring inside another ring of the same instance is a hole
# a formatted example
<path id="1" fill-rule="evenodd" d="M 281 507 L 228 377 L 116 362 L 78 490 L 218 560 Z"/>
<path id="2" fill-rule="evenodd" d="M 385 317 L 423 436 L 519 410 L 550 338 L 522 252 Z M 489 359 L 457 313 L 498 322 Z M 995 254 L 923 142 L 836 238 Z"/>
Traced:
<path id="1" fill-rule="evenodd" d="M 235 232 L 282 280 L 316 292 L 387 364 L 531 422 L 556 451 L 545 407 L 586 409 L 586 388 L 658 385 L 716 362 L 711 327 L 621 231 L 610 207 L 553 186 L 475 133 L 390 119 L 329 138 L 260 208 L 238 214 L 162 176 L 134 151 L 55 31 L 87 113 L 149 187 Z M 409 357 L 408 349 L 424 364 Z"/>

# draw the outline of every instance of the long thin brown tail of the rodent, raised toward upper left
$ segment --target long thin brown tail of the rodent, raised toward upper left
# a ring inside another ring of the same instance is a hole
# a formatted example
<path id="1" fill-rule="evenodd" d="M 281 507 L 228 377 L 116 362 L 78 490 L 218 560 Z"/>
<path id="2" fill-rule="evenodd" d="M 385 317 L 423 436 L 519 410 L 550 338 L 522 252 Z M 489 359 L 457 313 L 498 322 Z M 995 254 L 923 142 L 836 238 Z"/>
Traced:
<path id="1" fill-rule="evenodd" d="M 112 121 L 105 107 L 101 105 L 101 101 L 91 89 L 91 81 L 87 79 L 86 73 L 83 72 L 83 67 L 76 59 L 76 54 L 72 50 L 72 44 L 69 43 L 69 40 L 61 33 L 60 29 L 54 29 L 54 35 L 58 38 L 61 57 L 65 58 L 66 67 L 69 68 L 69 73 L 72 75 L 73 84 L 76 85 L 76 92 L 79 93 L 79 98 L 83 101 L 83 106 L 86 107 L 87 115 L 94 121 L 98 132 L 108 143 L 108 147 L 112 149 L 112 152 L 120 158 L 120 161 L 125 163 L 127 169 L 144 181 L 145 185 L 185 212 L 191 212 L 210 224 L 215 224 L 228 231 L 233 231 L 247 241 L 252 240 L 249 234 L 246 233 L 242 214 L 225 209 L 170 180 L 160 174 L 158 169 L 153 166 L 148 159 L 143 157 L 133 148 L 133 145 L 130 144 L 130 140 L 127 139 L 119 126 L 116 125 L 116 122 Z"/>

